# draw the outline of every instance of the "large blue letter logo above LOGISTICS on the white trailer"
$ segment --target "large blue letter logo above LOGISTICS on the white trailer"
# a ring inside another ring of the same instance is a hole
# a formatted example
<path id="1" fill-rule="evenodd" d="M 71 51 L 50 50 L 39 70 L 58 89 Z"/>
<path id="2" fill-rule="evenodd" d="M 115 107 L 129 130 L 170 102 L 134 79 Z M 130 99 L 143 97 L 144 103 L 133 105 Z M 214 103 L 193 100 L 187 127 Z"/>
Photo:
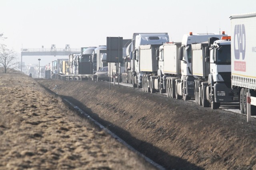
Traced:
<path id="1" fill-rule="evenodd" d="M 237 47 L 237 49 L 236 49 Z M 245 27 L 244 24 L 235 25 L 234 29 L 234 53 L 237 60 L 240 59 L 240 53 L 242 53 L 242 59 L 245 57 Z"/>

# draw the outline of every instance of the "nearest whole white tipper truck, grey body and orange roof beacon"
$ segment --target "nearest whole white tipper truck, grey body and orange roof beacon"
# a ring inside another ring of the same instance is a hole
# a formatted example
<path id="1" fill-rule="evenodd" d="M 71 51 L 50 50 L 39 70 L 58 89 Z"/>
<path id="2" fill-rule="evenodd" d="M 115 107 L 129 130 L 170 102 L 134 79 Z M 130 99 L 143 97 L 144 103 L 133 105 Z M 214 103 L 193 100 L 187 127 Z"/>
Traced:
<path id="1" fill-rule="evenodd" d="M 231 89 L 230 43 L 230 36 L 222 36 L 192 44 L 192 75 L 198 77 L 194 88 L 198 105 L 217 109 L 220 103 L 238 102 L 238 90 Z"/>

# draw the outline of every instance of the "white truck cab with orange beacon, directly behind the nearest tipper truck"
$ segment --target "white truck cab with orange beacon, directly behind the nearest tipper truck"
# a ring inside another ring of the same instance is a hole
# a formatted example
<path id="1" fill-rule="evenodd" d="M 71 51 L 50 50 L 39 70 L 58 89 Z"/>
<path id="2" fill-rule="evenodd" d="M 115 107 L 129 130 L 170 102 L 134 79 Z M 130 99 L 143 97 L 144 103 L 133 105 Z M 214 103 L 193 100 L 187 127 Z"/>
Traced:
<path id="1" fill-rule="evenodd" d="M 175 79 L 174 87 L 176 99 L 183 98 L 183 100 L 190 100 L 191 97 L 194 97 L 194 80 L 198 79 L 198 76 L 192 74 L 191 45 L 206 42 L 209 37 L 217 37 L 220 39 L 224 35 L 224 33 L 198 33 L 193 35 L 193 33 L 190 32 L 183 36 L 182 45 L 178 52 L 178 59 L 181 60 L 181 77 Z M 170 82 L 171 85 L 174 84 L 172 81 Z"/>

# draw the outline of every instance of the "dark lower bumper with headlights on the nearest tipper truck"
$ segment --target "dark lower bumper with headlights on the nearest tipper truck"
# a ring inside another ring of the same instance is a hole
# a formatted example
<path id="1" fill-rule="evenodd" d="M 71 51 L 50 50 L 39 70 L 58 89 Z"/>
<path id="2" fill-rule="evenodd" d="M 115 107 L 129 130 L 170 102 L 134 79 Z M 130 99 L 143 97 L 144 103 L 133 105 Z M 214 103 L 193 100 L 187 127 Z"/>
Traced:
<path id="1" fill-rule="evenodd" d="M 214 100 L 218 103 L 238 102 L 238 89 L 231 89 L 224 82 L 214 84 Z"/>

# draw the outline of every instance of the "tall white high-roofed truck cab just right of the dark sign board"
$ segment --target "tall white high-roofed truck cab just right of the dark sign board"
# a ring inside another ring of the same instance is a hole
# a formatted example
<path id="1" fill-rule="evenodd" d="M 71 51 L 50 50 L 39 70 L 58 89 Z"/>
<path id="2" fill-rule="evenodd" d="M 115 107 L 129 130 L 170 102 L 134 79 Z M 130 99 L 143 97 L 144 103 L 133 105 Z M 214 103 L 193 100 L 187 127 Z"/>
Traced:
<path id="1" fill-rule="evenodd" d="M 125 72 L 122 73 L 124 82 L 132 83 L 133 87 L 142 88 L 142 74 L 135 70 L 135 59 L 133 55 L 137 55 L 140 45 L 154 45 L 169 42 L 168 33 L 133 33 L 130 51 L 130 59 L 124 59 Z M 140 74 L 140 76 L 139 76 Z M 138 79 L 141 78 L 141 79 Z M 138 81 L 137 81 L 138 80 Z"/>

